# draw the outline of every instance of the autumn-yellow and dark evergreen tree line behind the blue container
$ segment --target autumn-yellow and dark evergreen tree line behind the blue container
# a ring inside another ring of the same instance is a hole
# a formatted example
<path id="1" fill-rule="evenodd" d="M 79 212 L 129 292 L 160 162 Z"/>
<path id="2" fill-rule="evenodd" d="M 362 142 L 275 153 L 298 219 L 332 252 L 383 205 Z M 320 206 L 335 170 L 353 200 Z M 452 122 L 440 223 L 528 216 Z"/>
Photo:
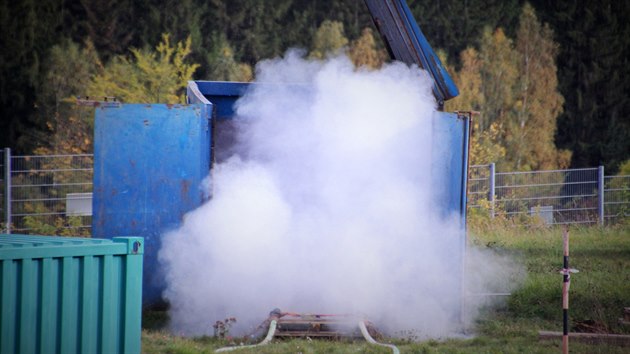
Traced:
<path id="1" fill-rule="evenodd" d="M 628 159 L 629 4 L 408 4 L 460 87 L 447 108 L 480 112 L 473 162 L 614 173 Z M 357 0 L 0 0 L 1 145 L 89 150 L 90 114 L 72 97 L 179 101 L 188 79 L 248 81 L 290 47 L 346 48 L 357 66 L 386 57 Z"/>

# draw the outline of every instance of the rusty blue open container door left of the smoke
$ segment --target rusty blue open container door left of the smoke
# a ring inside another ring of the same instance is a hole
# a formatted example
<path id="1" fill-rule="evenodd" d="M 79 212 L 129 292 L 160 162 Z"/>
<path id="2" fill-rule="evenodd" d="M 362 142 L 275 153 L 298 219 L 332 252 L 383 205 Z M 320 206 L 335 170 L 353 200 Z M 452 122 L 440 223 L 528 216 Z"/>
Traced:
<path id="1" fill-rule="evenodd" d="M 205 197 L 209 105 L 124 104 L 96 109 L 94 237 L 143 236 L 143 305 L 161 301 L 162 235 Z"/>

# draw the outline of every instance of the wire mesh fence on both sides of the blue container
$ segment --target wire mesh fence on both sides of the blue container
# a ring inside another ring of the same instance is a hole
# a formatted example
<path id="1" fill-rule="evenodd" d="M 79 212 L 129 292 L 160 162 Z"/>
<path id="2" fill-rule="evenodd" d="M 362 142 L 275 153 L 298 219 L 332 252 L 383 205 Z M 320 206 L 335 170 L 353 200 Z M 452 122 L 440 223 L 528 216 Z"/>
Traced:
<path id="1" fill-rule="evenodd" d="M 0 157 L 0 230 L 90 235 L 93 155 L 11 156 L 4 149 Z M 630 176 L 604 176 L 603 167 L 496 172 L 488 164 L 469 172 L 468 207 L 492 217 L 601 224 L 630 216 Z"/>

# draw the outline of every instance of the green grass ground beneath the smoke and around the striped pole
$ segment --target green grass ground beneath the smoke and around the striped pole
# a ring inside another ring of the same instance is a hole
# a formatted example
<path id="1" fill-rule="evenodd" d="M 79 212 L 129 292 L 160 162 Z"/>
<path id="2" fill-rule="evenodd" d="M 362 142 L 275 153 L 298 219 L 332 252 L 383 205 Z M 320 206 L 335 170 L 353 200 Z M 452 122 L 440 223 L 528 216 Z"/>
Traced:
<path id="1" fill-rule="evenodd" d="M 574 332 L 630 334 L 618 319 L 630 306 L 630 226 L 571 227 L 570 320 Z M 541 341 L 539 330 L 562 331 L 562 229 L 476 223 L 469 232 L 476 247 L 508 254 L 527 271 L 521 286 L 500 306 L 484 310 L 467 339 L 410 342 L 391 340 L 402 353 L 557 353 L 560 340 Z M 158 318 L 156 320 L 156 318 Z M 213 337 L 183 338 L 160 329 L 159 314 L 145 314 L 145 353 L 210 353 L 238 344 Z M 571 341 L 572 353 L 628 353 L 630 347 Z M 365 342 L 274 341 L 238 353 L 388 353 Z"/>

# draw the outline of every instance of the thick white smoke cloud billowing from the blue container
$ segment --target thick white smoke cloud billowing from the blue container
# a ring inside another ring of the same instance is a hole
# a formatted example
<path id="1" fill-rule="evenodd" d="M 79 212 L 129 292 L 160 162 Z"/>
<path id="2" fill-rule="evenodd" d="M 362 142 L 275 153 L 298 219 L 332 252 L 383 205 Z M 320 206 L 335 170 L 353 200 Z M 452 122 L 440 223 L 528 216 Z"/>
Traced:
<path id="1" fill-rule="evenodd" d="M 212 199 L 164 237 L 173 328 L 208 334 L 235 317 L 242 334 L 279 307 L 451 333 L 463 234 L 433 207 L 430 77 L 293 51 L 260 63 L 257 78 L 237 102 Z"/>

